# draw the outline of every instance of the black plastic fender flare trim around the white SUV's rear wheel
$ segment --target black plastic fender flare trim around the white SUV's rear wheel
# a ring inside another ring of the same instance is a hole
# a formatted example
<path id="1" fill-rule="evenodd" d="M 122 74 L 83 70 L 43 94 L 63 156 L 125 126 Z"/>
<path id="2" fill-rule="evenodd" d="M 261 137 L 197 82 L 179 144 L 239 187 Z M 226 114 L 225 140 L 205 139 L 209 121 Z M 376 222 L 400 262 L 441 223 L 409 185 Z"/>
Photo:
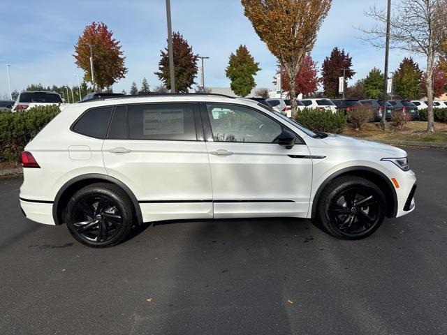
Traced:
<path id="1" fill-rule="evenodd" d="M 138 203 L 137 198 L 135 197 L 135 195 L 133 194 L 133 192 L 131 191 L 131 189 L 129 187 L 127 187 L 122 181 L 119 181 L 116 178 L 110 177 L 107 174 L 87 173 L 87 174 L 80 174 L 79 176 L 74 177 L 73 179 L 70 179 L 57 192 L 56 197 L 54 198 L 53 209 L 52 209 L 53 219 L 54 219 L 54 223 L 56 225 L 62 224 L 59 221 L 58 210 L 57 210 L 58 206 L 59 206 L 59 200 L 61 200 L 61 196 L 73 184 L 78 183 L 79 181 L 82 181 L 82 180 L 87 180 L 87 179 L 98 179 L 98 180 L 108 181 L 111 184 L 115 184 L 119 188 L 122 188 L 122 190 L 124 192 L 126 192 L 126 194 L 129 196 L 129 199 L 131 200 L 133 207 L 135 208 L 135 213 L 137 216 L 138 223 L 142 223 L 142 214 L 141 214 L 140 204 Z"/>

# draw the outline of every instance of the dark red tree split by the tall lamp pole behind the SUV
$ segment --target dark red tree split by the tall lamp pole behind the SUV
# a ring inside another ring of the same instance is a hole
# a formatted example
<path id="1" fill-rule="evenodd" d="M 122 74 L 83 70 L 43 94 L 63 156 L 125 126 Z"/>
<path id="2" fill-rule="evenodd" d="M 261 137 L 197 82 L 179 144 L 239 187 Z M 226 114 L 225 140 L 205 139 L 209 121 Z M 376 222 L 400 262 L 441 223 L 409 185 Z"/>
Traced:
<path id="1" fill-rule="evenodd" d="M 178 31 L 173 32 L 173 51 L 175 89 L 180 93 L 187 93 L 195 84 L 194 77 L 196 77 L 198 71 L 197 54 L 193 53 L 193 48 Z M 161 51 L 160 56 L 159 72 L 155 74 L 159 76 L 165 87 L 170 90 L 168 47 Z"/>

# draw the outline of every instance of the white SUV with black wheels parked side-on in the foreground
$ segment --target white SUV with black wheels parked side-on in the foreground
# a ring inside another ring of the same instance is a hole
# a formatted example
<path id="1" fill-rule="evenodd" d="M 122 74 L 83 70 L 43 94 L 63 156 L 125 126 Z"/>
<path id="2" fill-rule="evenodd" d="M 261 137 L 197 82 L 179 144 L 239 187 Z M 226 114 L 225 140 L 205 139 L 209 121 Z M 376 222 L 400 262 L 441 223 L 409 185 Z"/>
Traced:
<path id="1" fill-rule="evenodd" d="M 406 152 L 317 133 L 255 101 L 123 97 L 68 106 L 22 154 L 24 215 L 89 246 L 134 224 L 316 218 L 359 239 L 414 209 Z"/>

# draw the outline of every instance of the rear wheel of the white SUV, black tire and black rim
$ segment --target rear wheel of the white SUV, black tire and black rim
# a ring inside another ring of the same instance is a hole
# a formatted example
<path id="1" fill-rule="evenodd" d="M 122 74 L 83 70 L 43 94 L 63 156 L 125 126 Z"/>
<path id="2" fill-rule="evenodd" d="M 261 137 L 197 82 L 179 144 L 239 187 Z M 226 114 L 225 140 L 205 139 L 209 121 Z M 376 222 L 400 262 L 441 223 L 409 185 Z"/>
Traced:
<path id="1" fill-rule="evenodd" d="M 133 205 L 114 184 L 85 186 L 68 200 L 68 231 L 86 246 L 105 248 L 122 242 L 133 225 Z"/>

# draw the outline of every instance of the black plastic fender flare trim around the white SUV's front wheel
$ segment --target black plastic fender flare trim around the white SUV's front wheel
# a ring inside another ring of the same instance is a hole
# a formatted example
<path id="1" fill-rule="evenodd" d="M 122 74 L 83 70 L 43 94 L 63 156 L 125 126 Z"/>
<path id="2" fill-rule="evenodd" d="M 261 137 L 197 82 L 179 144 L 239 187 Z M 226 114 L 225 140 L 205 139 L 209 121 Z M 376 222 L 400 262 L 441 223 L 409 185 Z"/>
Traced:
<path id="1" fill-rule="evenodd" d="M 346 174 L 347 172 L 353 172 L 353 171 L 372 172 L 372 173 L 376 174 L 378 177 L 380 177 L 381 179 L 383 179 L 383 181 L 385 181 L 386 184 L 388 184 L 388 187 L 390 188 L 391 193 L 393 194 L 393 208 L 390 211 L 392 213 L 391 217 L 394 218 L 397 215 L 397 206 L 398 206 L 397 194 L 396 194 L 396 190 L 393 186 L 393 183 L 390 181 L 390 179 L 388 177 L 386 177 L 386 175 L 383 174 L 383 172 L 380 172 L 379 170 L 376 170 L 374 168 L 369 168 L 367 166 L 350 166 L 349 168 L 344 168 L 342 170 L 338 170 L 337 172 L 330 174 L 330 176 L 328 178 L 326 178 L 325 181 L 323 181 L 323 183 L 321 183 L 321 185 L 318 187 L 318 190 L 316 191 L 316 193 L 314 195 L 314 199 L 312 201 L 311 218 L 316 217 L 316 209 L 318 206 L 318 200 L 320 198 L 321 192 L 323 192 L 324 188 L 330 183 L 330 181 L 341 176 L 342 174 Z"/>

